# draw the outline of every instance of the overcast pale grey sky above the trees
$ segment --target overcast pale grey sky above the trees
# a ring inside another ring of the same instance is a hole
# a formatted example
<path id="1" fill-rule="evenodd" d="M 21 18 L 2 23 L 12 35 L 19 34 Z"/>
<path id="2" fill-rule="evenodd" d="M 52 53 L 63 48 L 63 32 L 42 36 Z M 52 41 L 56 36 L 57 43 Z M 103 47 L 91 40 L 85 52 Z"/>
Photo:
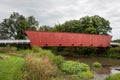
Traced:
<path id="1" fill-rule="evenodd" d="M 34 16 L 40 25 L 49 26 L 99 15 L 110 21 L 113 39 L 120 39 L 120 0 L 0 0 L 0 22 L 13 12 Z"/>

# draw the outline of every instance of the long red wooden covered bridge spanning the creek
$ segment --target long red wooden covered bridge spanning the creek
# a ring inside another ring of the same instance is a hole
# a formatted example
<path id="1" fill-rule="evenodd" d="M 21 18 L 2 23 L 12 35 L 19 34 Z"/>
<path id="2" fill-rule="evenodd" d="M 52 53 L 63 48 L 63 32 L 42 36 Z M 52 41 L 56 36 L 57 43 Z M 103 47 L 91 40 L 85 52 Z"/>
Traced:
<path id="1" fill-rule="evenodd" d="M 31 46 L 94 46 L 109 47 L 112 36 L 67 32 L 25 31 Z"/>

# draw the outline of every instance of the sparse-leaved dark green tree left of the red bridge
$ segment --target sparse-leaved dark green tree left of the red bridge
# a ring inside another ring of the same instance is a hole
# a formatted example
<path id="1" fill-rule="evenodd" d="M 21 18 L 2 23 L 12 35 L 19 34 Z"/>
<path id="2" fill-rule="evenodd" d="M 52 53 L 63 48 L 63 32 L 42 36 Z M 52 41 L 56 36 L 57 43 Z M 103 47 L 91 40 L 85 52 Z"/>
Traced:
<path id="1" fill-rule="evenodd" d="M 0 39 L 25 39 L 24 30 L 36 30 L 38 21 L 33 16 L 25 18 L 13 12 L 0 23 Z"/>

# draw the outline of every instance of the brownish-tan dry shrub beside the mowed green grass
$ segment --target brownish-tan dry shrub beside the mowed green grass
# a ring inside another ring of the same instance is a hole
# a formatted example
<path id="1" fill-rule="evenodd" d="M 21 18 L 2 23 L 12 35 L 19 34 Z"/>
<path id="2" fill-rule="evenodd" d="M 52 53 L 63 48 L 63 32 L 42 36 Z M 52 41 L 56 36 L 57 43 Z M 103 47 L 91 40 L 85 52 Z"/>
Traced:
<path id="1" fill-rule="evenodd" d="M 28 80 L 49 80 L 57 74 L 57 67 L 47 56 L 38 58 L 29 54 L 25 62 Z"/>

